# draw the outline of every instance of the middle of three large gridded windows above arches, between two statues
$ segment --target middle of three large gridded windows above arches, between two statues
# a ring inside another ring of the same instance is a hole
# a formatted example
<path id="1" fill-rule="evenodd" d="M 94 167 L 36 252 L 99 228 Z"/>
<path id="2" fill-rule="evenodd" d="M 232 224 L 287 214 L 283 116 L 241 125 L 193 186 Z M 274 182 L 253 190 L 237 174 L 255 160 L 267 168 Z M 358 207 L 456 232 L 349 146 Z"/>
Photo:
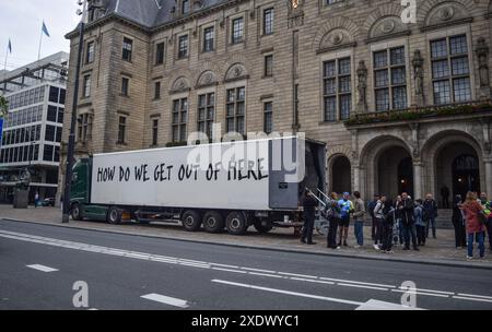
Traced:
<path id="1" fill-rule="evenodd" d="M 408 103 L 405 47 L 376 51 L 373 59 L 376 111 L 406 109 Z"/>

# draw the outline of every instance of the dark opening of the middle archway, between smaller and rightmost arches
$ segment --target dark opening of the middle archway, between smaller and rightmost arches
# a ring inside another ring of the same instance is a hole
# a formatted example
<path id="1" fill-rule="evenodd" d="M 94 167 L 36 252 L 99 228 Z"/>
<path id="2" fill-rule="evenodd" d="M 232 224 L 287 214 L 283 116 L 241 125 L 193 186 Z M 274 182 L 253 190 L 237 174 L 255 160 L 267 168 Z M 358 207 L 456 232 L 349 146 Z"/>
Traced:
<path id="1" fill-rule="evenodd" d="M 401 192 L 413 197 L 412 157 L 402 146 L 390 146 L 376 159 L 377 191 L 388 199 L 395 199 Z"/>

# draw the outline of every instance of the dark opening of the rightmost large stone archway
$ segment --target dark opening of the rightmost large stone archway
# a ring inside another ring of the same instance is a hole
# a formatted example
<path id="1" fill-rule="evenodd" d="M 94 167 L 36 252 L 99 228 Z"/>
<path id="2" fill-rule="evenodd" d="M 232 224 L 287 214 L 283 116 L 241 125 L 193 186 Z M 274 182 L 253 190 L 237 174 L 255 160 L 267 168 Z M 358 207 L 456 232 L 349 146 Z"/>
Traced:
<path id="1" fill-rule="evenodd" d="M 436 155 L 436 188 L 435 192 L 449 189 L 449 200 L 456 194 L 462 198 L 468 191 L 480 191 L 480 161 L 473 146 L 466 142 L 449 142 Z M 436 194 L 436 195 L 437 195 Z"/>

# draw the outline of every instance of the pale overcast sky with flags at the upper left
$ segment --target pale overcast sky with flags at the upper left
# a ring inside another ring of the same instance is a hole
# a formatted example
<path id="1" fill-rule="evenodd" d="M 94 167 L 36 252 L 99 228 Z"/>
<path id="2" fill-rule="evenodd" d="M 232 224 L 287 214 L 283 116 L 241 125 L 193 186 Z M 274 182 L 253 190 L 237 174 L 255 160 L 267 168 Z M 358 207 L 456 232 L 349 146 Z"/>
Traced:
<path id="1" fill-rule="evenodd" d="M 65 35 L 80 20 L 75 14 L 77 0 L 0 0 L 0 70 L 4 67 L 9 38 L 12 55 L 9 54 L 7 70 L 37 60 L 43 20 L 51 37 L 43 37 L 42 58 L 69 51 Z"/>

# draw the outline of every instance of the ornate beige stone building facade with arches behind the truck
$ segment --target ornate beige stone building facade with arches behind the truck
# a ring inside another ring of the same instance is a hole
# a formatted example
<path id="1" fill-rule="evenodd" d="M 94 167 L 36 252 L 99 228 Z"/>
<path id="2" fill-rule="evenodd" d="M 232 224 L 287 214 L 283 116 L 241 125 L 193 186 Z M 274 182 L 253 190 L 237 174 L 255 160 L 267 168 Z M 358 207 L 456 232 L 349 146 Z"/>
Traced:
<path id="1" fill-rule="evenodd" d="M 492 1 L 415 2 L 92 1 L 77 156 L 218 123 L 326 142 L 338 192 L 492 194 Z"/>

